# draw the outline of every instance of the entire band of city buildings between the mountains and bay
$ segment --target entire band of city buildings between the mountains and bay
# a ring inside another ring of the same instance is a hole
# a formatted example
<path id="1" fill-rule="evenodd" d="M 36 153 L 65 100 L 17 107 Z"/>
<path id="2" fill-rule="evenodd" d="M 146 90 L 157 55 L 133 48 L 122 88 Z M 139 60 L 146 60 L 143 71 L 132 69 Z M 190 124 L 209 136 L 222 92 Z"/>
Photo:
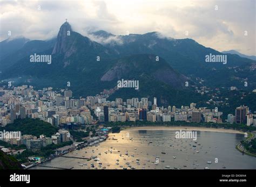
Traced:
<path id="1" fill-rule="evenodd" d="M 32 86 L 22 85 L 12 89 L 0 88 L 0 125 L 13 123 L 15 119 L 39 118 L 53 126 L 70 129 L 73 126 L 93 125 L 97 121 L 187 121 L 187 122 L 211 122 L 222 123 L 220 116 L 223 112 L 218 108 L 207 109 L 196 107 L 196 103 L 190 106 L 158 106 L 157 98 L 152 102 L 148 98 L 130 98 L 123 100 L 116 98 L 107 100 L 107 93 L 87 96 L 86 98 L 73 99 L 71 90 L 53 91 L 52 88 L 34 90 Z M 94 114 L 91 113 L 94 111 Z M 97 117 L 93 119 L 93 116 Z M 256 119 L 247 106 L 237 107 L 235 115 L 228 114 L 228 123 L 256 125 Z M 68 131 L 66 132 L 68 133 Z M 62 134 L 53 135 L 50 140 L 53 143 L 62 142 Z M 27 147 L 42 147 L 50 143 L 45 137 L 31 138 Z M 65 141 L 65 138 L 64 138 Z"/>

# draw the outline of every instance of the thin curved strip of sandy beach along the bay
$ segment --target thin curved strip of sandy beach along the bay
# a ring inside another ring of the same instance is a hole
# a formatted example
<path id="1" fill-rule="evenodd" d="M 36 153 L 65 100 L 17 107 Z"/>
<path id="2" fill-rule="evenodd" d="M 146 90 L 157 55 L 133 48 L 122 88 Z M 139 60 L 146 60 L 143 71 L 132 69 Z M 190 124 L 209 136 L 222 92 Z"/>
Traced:
<path id="1" fill-rule="evenodd" d="M 170 130 L 170 131 L 208 131 L 208 132 L 223 132 L 223 133 L 235 133 L 244 134 L 242 131 L 224 129 L 224 128 L 206 128 L 206 127 L 190 127 L 190 126 L 174 126 L 174 127 L 127 127 L 125 130 L 138 131 L 138 130 L 149 130 L 149 131 L 160 131 L 160 130 Z"/>

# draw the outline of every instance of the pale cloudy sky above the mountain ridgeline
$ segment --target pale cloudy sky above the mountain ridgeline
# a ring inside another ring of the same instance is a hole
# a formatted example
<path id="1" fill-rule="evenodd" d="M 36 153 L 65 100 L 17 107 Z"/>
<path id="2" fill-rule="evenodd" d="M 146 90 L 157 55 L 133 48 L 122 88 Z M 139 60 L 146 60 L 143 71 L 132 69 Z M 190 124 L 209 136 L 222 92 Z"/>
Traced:
<path id="1" fill-rule="evenodd" d="M 0 7 L 0 41 L 51 39 L 68 19 L 72 30 L 83 35 L 97 30 L 116 35 L 157 31 L 220 52 L 256 55 L 256 0 L 0 0 Z"/>

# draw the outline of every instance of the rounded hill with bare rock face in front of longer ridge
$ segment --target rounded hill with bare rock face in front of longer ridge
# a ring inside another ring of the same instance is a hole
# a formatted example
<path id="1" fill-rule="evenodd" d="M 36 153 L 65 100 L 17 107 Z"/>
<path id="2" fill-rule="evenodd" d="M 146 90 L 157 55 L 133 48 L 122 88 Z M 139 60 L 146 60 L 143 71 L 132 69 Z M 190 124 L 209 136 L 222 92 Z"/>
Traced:
<path id="1" fill-rule="evenodd" d="M 185 82 L 188 81 L 187 77 L 174 71 L 164 59 L 156 61 L 156 55 L 149 54 L 129 55 L 118 59 L 100 80 L 139 80 L 145 75 L 176 89 L 185 88 Z"/>

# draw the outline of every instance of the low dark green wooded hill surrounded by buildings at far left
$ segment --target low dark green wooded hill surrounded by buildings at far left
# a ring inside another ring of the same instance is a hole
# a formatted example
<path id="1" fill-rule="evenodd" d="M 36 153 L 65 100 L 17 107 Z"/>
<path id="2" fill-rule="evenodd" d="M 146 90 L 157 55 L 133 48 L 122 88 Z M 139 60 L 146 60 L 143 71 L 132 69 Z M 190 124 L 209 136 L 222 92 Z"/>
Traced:
<path id="1" fill-rule="evenodd" d="M 22 134 L 31 134 L 37 137 L 44 134 L 47 137 L 51 137 L 52 134 L 55 134 L 58 131 L 58 128 L 40 119 L 25 118 L 17 119 L 13 124 L 8 124 L 5 127 L 1 127 L 0 130 L 21 131 Z"/>

